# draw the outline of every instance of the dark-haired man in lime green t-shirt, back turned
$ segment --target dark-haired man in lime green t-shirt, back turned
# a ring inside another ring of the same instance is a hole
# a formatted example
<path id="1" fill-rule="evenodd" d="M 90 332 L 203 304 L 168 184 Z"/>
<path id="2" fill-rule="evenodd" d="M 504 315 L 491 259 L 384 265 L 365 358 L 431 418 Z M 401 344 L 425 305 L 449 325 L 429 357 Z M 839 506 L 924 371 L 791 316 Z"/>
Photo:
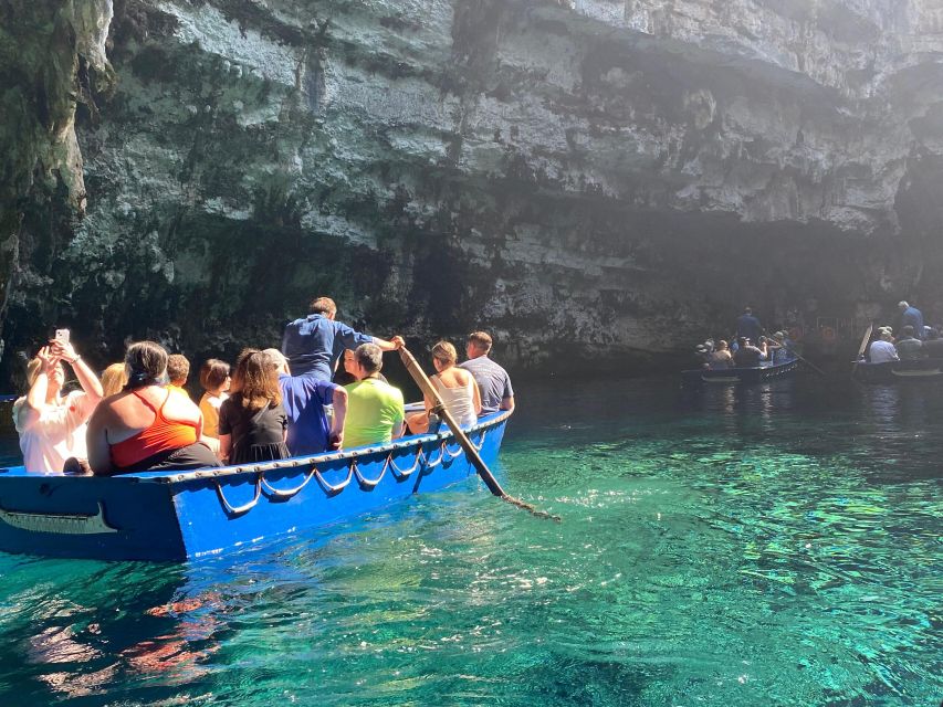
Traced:
<path id="1" fill-rule="evenodd" d="M 406 416 L 402 391 L 380 380 L 383 366 L 384 352 L 376 344 L 362 344 L 354 351 L 350 372 L 357 382 L 344 387 L 347 391 L 345 450 L 386 444 L 402 434 Z"/>

